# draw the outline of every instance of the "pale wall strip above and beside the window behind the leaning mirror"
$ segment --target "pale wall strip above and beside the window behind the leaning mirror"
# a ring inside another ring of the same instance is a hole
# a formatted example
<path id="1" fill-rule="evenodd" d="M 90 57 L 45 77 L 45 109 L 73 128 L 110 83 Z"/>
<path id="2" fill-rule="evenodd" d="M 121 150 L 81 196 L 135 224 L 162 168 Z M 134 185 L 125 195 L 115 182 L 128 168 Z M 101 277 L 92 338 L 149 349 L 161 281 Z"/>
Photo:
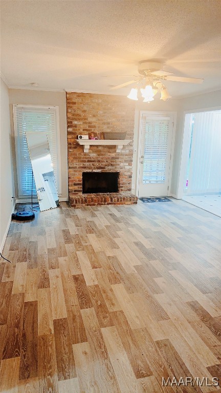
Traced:
<path id="1" fill-rule="evenodd" d="M 61 195 L 60 200 L 68 200 L 68 144 L 65 92 L 9 89 L 11 130 L 14 136 L 12 104 L 59 106 L 60 149 L 61 149 Z M 15 151 L 13 139 L 13 152 Z M 18 195 L 16 161 L 14 164 L 15 193 Z"/>

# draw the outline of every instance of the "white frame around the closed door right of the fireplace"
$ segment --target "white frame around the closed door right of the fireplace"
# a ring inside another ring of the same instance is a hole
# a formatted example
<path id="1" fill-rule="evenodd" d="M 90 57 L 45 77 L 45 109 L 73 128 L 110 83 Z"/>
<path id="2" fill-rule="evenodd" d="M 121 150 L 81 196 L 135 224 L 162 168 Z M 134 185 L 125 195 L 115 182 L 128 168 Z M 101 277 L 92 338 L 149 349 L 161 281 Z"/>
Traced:
<path id="1" fill-rule="evenodd" d="M 170 197 L 171 194 L 171 181 L 172 181 L 172 166 L 173 166 L 173 155 L 175 146 L 175 129 L 176 129 L 176 112 L 171 111 L 140 111 L 139 118 L 139 133 L 138 133 L 138 155 L 137 155 L 137 180 L 136 180 L 136 195 L 139 197 L 139 178 L 140 178 L 140 155 L 141 155 L 141 133 L 142 133 L 142 116 L 169 116 L 172 118 L 172 142 L 171 142 L 171 152 L 170 152 L 170 163 L 169 163 L 169 181 L 168 181 L 168 192 L 167 196 Z"/>

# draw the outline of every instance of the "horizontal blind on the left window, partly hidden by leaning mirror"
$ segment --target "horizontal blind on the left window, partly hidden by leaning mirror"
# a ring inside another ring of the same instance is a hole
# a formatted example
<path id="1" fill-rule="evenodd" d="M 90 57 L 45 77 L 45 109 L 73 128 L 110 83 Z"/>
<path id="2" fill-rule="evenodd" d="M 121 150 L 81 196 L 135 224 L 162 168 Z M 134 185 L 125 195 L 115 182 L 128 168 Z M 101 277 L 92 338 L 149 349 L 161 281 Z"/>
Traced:
<path id="1" fill-rule="evenodd" d="M 32 192 L 32 166 L 25 133 L 47 133 L 55 179 L 58 186 L 56 108 L 14 105 L 13 111 L 16 137 L 18 197 L 24 198 L 27 195 L 31 195 Z M 36 194 L 35 184 L 33 194 Z"/>

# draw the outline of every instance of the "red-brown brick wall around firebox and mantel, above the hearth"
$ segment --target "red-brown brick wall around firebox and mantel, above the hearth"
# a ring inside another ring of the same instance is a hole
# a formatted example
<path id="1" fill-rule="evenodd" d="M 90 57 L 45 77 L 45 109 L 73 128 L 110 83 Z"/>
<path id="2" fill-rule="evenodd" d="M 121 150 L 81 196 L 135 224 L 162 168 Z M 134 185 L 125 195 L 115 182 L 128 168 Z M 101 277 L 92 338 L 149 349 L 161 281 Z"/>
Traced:
<path id="1" fill-rule="evenodd" d="M 126 132 L 134 138 L 135 102 L 127 97 L 67 93 L 69 196 L 82 195 L 82 172 L 119 171 L 119 192 L 131 191 L 133 142 L 121 153 L 116 146 L 91 146 L 88 153 L 77 142 L 79 134 Z"/>

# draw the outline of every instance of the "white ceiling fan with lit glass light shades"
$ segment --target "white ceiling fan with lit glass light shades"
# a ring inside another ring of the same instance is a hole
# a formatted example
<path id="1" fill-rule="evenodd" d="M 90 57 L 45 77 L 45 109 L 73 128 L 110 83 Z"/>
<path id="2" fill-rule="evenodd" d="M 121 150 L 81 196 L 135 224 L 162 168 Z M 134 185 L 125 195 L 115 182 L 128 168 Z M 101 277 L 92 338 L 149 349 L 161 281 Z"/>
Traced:
<path id="1" fill-rule="evenodd" d="M 172 72 L 162 70 L 163 63 L 157 60 L 142 60 L 138 64 L 138 75 L 136 78 L 130 80 L 129 82 L 125 82 L 119 84 L 118 86 L 112 87 L 110 90 L 117 90 L 124 88 L 132 83 L 136 83 L 136 87 L 131 89 L 128 98 L 132 100 L 138 100 L 137 93 L 138 88 L 137 85 L 142 85 L 144 89 L 141 90 L 142 97 L 144 97 L 144 102 L 150 102 L 153 100 L 153 96 L 157 94 L 158 90 L 161 90 L 161 98 L 164 101 L 167 101 L 171 96 L 167 92 L 166 86 L 162 81 L 174 81 L 174 82 L 187 82 L 187 83 L 202 83 L 204 79 L 201 78 L 188 78 L 181 76 L 173 76 Z M 159 86 L 158 86 L 159 85 Z"/>

